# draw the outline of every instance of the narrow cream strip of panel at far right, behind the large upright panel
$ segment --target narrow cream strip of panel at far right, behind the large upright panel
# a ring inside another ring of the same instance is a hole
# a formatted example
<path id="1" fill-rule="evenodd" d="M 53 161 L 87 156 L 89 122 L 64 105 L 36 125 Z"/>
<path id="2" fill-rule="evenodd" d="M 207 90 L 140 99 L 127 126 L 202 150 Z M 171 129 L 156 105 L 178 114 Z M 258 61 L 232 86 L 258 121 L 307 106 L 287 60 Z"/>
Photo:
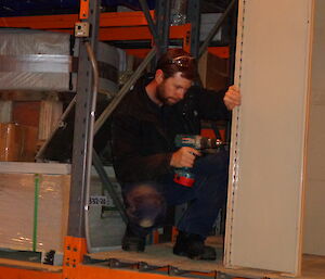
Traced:
<path id="1" fill-rule="evenodd" d="M 303 252 L 325 255 L 325 1 L 315 1 Z"/>

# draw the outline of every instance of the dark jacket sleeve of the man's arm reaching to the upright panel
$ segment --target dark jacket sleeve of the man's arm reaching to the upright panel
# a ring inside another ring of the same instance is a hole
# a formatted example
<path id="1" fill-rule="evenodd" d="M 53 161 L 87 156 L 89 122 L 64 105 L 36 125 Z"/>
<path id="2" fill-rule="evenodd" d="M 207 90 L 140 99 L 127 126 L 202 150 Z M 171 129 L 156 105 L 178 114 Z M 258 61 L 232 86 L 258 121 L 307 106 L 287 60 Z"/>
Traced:
<path id="1" fill-rule="evenodd" d="M 211 91 L 193 86 L 188 91 L 188 98 L 192 99 L 202 119 L 225 121 L 230 118 L 230 111 L 223 102 L 226 89 Z"/>

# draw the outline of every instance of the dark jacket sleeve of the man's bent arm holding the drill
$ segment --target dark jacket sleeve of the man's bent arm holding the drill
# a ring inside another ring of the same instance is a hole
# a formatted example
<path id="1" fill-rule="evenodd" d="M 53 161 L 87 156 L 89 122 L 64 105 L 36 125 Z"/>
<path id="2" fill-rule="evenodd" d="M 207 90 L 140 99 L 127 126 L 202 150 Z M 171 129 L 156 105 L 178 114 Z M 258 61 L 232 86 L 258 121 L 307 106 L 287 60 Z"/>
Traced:
<path id="1" fill-rule="evenodd" d="M 139 119 L 126 114 L 114 116 L 112 126 L 114 168 L 121 182 L 156 180 L 171 172 L 172 153 L 141 154 L 142 137 Z"/>

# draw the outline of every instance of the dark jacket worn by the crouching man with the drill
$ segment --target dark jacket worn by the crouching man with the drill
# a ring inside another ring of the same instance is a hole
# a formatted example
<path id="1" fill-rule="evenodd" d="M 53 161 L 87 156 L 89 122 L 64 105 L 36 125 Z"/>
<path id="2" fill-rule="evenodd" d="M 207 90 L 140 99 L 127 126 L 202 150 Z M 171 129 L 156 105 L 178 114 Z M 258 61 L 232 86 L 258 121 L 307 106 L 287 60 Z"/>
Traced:
<path id="1" fill-rule="evenodd" d="M 142 79 L 113 115 L 112 150 L 120 182 L 159 180 L 172 172 L 170 158 L 178 134 L 199 135 L 200 119 L 226 119 L 225 91 L 191 87 L 179 103 L 158 106 L 146 94 Z"/>

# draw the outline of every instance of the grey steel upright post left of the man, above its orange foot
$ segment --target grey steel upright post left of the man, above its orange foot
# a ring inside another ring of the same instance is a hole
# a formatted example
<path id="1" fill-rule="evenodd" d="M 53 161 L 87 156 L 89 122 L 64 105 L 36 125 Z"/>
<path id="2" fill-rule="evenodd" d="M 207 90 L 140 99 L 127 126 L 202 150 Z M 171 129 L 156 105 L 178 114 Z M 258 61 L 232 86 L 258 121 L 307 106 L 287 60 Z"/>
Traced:
<path id="1" fill-rule="evenodd" d="M 90 176 L 89 160 L 92 141 L 91 119 L 93 101 L 93 74 L 91 62 L 88 59 L 87 42 L 90 42 L 93 50 L 96 49 L 100 18 L 100 1 L 90 0 L 89 18 L 90 37 L 80 39 L 79 64 L 77 79 L 76 116 L 74 131 L 74 151 L 72 166 L 72 185 L 69 200 L 68 236 L 83 238 L 84 211 L 87 201 L 87 183 Z"/>

